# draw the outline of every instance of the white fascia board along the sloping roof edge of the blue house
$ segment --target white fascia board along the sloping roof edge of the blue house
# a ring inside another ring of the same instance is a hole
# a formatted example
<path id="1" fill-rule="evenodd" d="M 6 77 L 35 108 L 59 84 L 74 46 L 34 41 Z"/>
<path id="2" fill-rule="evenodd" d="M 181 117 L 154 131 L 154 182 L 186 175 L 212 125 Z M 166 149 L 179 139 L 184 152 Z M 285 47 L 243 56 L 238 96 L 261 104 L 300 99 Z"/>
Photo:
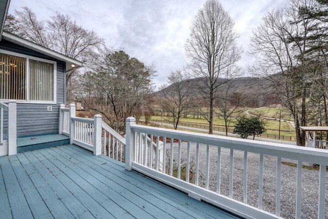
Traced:
<path id="1" fill-rule="evenodd" d="M 14 34 L 8 33 L 8 32 L 3 32 L 3 38 L 6 39 L 7 41 L 10 41 L 14 44 L 29 48 L 31 50 L 34 50 L 36 52 L 48 55 L 50 57 L 53 57 L 55 59 L 58 59 L 60 61 L 63 61 L 66 63 L 66 72 L 71 71 L 73 69 L 77 69 L 83 66 L 83 63 L 80 61 L 77 61 L 74 58 L 68 57 L 66 55 L 63 55 L 59 52 L 53 51 L 51 49 L 48 49 L 46 47 L 40 46 L 38 44 L 32 43 L 28 41 L 27 39 L 24 39 L 22 37 L 16 36 Z M 74 68 L 72 68 L 72 64 L 75 65 Z"/>

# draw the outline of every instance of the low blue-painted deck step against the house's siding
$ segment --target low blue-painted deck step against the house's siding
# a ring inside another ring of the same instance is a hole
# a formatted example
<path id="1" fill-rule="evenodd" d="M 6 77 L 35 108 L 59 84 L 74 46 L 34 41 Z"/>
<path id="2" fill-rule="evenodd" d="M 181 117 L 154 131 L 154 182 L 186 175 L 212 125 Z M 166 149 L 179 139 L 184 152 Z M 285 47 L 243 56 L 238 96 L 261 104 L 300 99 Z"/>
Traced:
<path id="1" fill-rule="evenodd" d="M 67 145 L 70 138 L 63 134 L 24 136 L 17 138 L 17 153 Z"/>

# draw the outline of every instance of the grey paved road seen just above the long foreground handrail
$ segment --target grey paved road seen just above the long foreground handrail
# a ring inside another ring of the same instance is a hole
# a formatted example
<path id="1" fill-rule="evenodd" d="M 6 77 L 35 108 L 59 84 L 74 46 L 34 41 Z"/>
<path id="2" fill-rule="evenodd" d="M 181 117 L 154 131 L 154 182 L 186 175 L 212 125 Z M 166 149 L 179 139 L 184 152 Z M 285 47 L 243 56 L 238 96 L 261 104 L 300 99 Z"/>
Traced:
<path id="1" fill-rule="evenodd" d="M 153 122 L 153 123 L 156 123 L 156 122 Z M 168 123 L 159 123 L 159 122 L 157 122 L 157 124 L 160 124 L 160 125 L 162 124 L 162 125 L 165 125 L 165 126 L 173 127 L 172 124 L 168 124 Z M 194 128 L 194 127 L 189 127 L 189 126 L 178 126 L 178 128 L 188 129 L 188 130 L 198 131 L 198 132 L 203 132 L 203 133 L 208 133 L 209 132 L 208 129 Z M 213 134 L 226 136 L 226 132 L 222 132 L 222 131 L 213 131 Z M 238 137 L 237 134 L 230 133 L 230 132 L 228 132 L 228 136 L 229 137 Z M 248 139 L 253 139 L 253 136 L 249 136 Z M 273 142 L 273 143 L 279 143 L 279 144 L 286 144 L 286 145 L 296 145 L 296 142 L 283 141 L 283 140 L 277 140 L 277 139 L 266 138 L 266 137 L 255 137 L 255 140 L 262 141 L 262 142 Z"/>

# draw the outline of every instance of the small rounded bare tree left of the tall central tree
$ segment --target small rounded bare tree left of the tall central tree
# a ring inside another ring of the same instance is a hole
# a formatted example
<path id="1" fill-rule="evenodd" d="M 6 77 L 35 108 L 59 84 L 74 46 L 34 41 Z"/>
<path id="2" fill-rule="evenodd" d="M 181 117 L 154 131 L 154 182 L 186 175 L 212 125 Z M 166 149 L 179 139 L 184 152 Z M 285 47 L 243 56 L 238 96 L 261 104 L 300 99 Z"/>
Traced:
<path id="1" fill-rule="evenodd" d="M 178 69 L 168 76 L 169 85 L 161 87 L 159 102 L 162 108 L 173 115 L 174 129 L 178 128 L 180 118 L 187 116 L 193 105 L 194 88 L 188 75 Z"/>

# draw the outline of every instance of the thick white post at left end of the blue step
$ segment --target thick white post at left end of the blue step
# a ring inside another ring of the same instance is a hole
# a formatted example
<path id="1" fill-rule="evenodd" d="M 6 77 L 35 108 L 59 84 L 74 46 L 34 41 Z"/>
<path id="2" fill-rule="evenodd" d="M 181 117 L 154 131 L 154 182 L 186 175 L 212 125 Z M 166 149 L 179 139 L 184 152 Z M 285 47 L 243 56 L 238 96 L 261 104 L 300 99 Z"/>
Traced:
<path id="1" fill-rule="evenodd" d="M 17 154 L 17 105 L 10 99 L 8 104 L 8 155 Z"/>

